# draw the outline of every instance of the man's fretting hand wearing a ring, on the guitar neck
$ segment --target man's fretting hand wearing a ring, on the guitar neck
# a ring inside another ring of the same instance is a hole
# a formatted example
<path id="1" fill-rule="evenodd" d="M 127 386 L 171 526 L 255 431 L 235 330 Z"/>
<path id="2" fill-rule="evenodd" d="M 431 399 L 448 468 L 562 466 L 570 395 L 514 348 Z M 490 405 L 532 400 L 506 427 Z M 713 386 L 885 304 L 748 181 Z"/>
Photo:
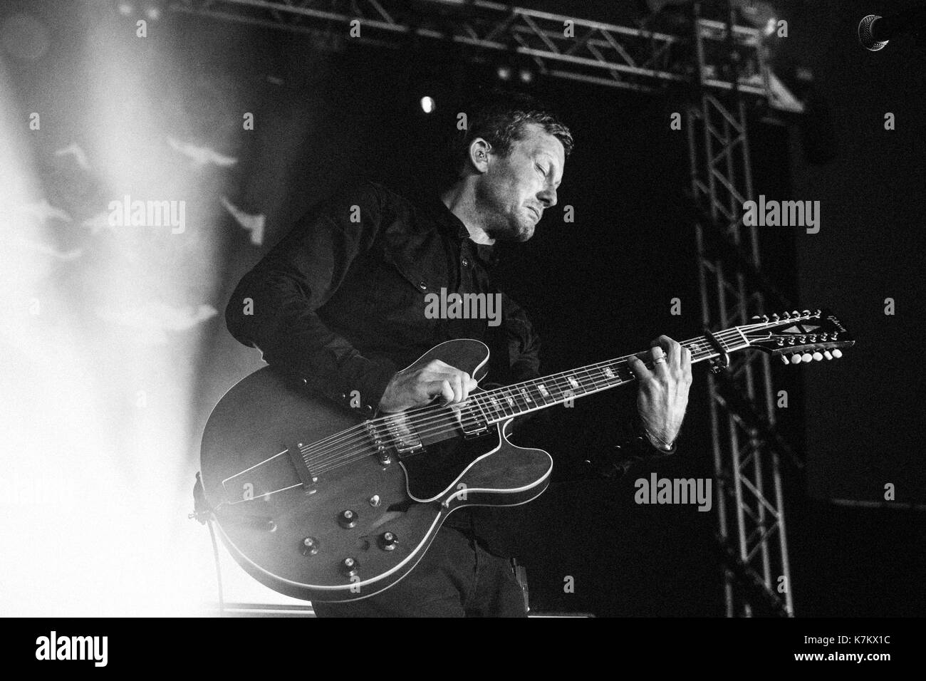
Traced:
<path id="1" fill-rule="evenodd" d="M 650 347 L 653 369 L 647 369 L 635 356 L 627 363 L 639 384 L 637 410 L 644 427 L 668 444 L 675 441 L 682 429 L 688 388 L 692 385 L 692 355 L 687 347 L 668 335 L 660 335 Z"/>

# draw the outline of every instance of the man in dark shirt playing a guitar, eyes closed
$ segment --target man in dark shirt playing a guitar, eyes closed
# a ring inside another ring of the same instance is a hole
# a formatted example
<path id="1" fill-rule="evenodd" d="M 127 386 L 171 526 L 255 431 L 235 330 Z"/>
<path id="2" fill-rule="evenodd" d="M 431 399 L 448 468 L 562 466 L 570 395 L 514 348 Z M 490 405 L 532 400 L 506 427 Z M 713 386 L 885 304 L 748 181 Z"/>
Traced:
<path id="1" fill-rule="evenodd" d="M 490 376 L 512 383 L 540 375 L 539 342 L 523 309 L 495 288 L 496 241 L 531 238 L 557 187 L 572 136 L 525 97 L 503 97 L 469 117 L 458 145 L 457 178 L 415 204 L 380 184 L 323 202 L 249 271 L 226 309 L 232 335 L 320 394 L 372 417 L 425 406 L 464 404 L 476 381 L 440 360 L 411 367 L 429 347 L 474 338 L 492 348 Z M 439 319 L 426 296 L 442 290 L 500 295 L 500 325 Z M 653 369 L 632 358 L 638 382 L 638 436 L 628 460 L 665 456 L 692 382 L 691 353 L 668 336 L 651 348 Z M 407 369 L 402 369 L 408 367 Z M 315 603 L 319 616 L 526 616 L 507 558 L 485 540 L 494 509 L 450 515 L 431 549 L 398 583 L 348 603 Z"/>

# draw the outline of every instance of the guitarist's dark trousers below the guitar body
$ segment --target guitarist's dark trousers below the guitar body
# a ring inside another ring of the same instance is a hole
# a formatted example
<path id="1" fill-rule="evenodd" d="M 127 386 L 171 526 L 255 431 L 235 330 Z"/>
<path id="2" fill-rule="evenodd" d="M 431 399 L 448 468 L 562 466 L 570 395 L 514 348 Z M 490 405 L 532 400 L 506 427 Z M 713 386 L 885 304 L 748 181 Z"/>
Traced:
<path id="1" fill-rule="evenodd" d="M 447 526 L 394 586 L 366 599 L 312 605 L 319 617 L 527 617 L 511 561 Z"/>

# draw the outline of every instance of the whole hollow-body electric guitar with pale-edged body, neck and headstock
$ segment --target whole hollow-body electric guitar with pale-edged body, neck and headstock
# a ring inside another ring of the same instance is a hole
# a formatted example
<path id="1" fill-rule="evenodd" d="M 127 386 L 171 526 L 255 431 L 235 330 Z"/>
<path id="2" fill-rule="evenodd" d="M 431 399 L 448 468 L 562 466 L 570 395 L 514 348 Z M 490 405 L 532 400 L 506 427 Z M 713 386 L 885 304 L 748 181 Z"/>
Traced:
<path id="1" fill-rule="evenodd" d="M 786 363 L 833 359 L 855 343 L 817 310 L 756 322 L 682 343 L 692 362 L 729 361 L 757 347 Z M 648 352 L 637 353 L 652 368 Z M 465 506 L 537 498 L 553 460 L 520 448 L 507 427 L 520 414 L 631 383 L 630 355 L 571 372 L 471 393 L 459 406 L 363 420 L 265 367 L 219 400 L 203 435 L 202 481 L 219 536 L 249 574 L 288 596 L 362 599 L 393 586 L 428 549 L 444 519 Z M 482 381 L 489 349 L 460 339 L 412 366 L 441 359 Z"/>

